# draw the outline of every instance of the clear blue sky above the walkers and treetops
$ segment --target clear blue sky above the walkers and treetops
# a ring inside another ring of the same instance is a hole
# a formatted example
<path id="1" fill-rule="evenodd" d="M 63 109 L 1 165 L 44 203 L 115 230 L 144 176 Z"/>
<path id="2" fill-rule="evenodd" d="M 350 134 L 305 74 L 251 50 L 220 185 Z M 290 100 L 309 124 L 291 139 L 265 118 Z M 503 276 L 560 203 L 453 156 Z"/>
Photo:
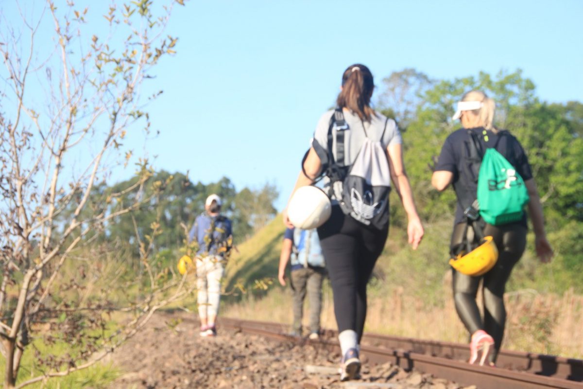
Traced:
<path id="1" fill-rule="evenodd" d="M 148 108 L 160 135 L 130 146 L 194 181 L 276 184 L 282 209 L 346 66 L 366 64 L 377 85 L 409 67 L 437 79 L 521 68 L 540 99 L 581 101 L 581 20 L 580 0 L 191 0 L 174 7 L 178 54 L 149 86 L 164 89 Z"/>

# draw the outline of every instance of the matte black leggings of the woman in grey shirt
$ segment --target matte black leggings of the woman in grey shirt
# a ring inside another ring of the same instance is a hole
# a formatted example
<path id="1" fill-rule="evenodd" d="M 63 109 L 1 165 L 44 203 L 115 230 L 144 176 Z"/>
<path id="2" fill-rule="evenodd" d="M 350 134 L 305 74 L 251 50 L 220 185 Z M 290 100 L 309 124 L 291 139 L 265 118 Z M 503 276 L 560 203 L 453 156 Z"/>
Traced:
<path id="1" fill-rule="evenodd" d="M 385 247 L 389 227 L 378 230 L 346 216 L 339 206 L 318 228 L 326 268 L 332 283 L 338 332 L 353 330 L 358 341 L 366 318 L 366 286 L 374 264 Z"/>

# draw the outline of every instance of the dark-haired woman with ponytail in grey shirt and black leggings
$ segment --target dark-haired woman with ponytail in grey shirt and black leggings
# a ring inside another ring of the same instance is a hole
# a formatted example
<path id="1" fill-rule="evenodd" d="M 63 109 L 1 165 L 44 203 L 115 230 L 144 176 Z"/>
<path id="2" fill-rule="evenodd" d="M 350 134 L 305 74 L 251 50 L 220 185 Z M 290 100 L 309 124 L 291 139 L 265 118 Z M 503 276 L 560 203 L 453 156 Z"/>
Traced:
<path id="1" fill-rule="evenodd" d="M 401 134 L 394 120 L 388 119 L 370 107 L 373 89 L 373 75 L 366 66 L 355 64 L 345 70 L 336 100 L 337 108 L 326 112 L 320 118 L 312 146 L 308 150 L 303 169 L 294 187 L 295 192 L 299 187 L 314 183 L 314 180 L 325 170 L 325 188 L 328 186 L 330 189 L 330 185 L 333 188 L 329 190 L 332 215 L 324 225 L 318 228 L 318 235 L 332 284 L 334 313 L 342 350 L 340 361 L 342 381 L 359 377 L 360 339 L 363 335 L 367 311 L 366 288 L 375 262 L 385 246 L 389 226 L 388 215 L 386 223 L 373 226 L 366 225 L 343 212 L 339 205 L 339 202 L 342 202 L 342 194 L 340 194 L 342 181 L 331 179 L 332 173 L 338 174 L 338 171 L 330 169 L 330 159 L 335 161 L 343 159 L 342 169 L 346 174 L 367 138 L 375 139 L 375 141 L 380 139 L 381 162 L 386 159 L 390 170 L 390 178 L 387 177 L 387 180 L 392 181 L 407 213 L 409 243 L 414 250 L 423 237 L 423 226 L 417 215 L 409 178 L 403 166 Z M 334 127 L 338 124 L 336 120 L 339 117 L 343 124 Z M 342 132 L 342 138 L 336 137 L 331 142 L 328 135 L 333 132 L 336 134 Z M 332 150 L 328 150 L 329 144 Z M 379 202 L 383 201 L 388 202 L 388 197 L 380 199 Z M 361 206 L 370 206 L 371 204 L 368 204 L 370 202 L 370 199 L 368 201 L 363 199 Z M 284 222 L 288 227 L 292 227 L 286 211 L 284 211 Z"/>

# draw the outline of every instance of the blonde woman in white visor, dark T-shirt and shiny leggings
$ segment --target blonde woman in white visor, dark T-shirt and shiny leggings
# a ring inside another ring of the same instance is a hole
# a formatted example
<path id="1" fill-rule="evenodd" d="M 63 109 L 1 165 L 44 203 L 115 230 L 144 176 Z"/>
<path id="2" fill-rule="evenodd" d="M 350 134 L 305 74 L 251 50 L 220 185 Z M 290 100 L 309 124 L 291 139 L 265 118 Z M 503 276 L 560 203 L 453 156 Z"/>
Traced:
<path id="1" fill-rule="evenodd" d="M 469 362 L 475 363 L 481 350 L 480 365 L 487 359 L 490 366 L 496 364 L 504 335 L 505 285 L 526 246 L 526 215 L 523 213 L 522 219 L 501 225 L 498 225 L 499 223 L 491 225 L 479 217 L 468 227 L 468 218 L 475 219 L 479 215 L 476 212 L 472 215 L 472 211 L 477 211 L 475 206 L 477 176 L 471 166 L 480 164 L 483 156 L 483 152 L 478 152 L 476 161 L 476 157 L 472 157 L 472 145 L 475 145 L 475 150 L 496 149 L 514 167 L 513 173 L 518 173 L 522 177 L 529 195 L 528 213 L 535 230 L 536 253 L 542 262 L 549 262 L 553 257 L 552 248 L 546 239 L 542 206 L 531 166 L 518 140 L 508 131 L 494 127 L 495 107 L 494 100 L 483 92 L 472 90 L 462 97 L 453 119 L 459 119 L 463 128 L 452 132 L 445 139 L 431 177 L 431 184 L 438 191 L 445 190 L 452 184 L 458 199 L 451 237 L 452 253 L 463 241 L 466 243 L 469 241 L 470 247 L 480 244 L 478 239 L 480 232 L 475 232 L 474 228 L 481 230 L 483 236 L 493 237 L 498 250 L 496 264 L 481 276 L 462 274 L 452 268 L 455 309 L 470 335 Z M 484 304 L 483 318 L 480 317 L 476 303 L 480 281 Z"/>

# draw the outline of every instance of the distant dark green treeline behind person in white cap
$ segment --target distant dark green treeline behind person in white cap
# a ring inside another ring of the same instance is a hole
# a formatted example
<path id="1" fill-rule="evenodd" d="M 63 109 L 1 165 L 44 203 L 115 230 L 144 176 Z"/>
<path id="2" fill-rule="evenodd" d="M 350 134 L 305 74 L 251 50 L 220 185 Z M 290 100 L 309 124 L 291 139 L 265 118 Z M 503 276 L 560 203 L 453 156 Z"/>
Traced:
<path id="1" fill-rule="evenodd" d="M 101 193 L 103 191 L 106 194 L 119 192 L 121 188 L 134 185 L 137 179 L 132 178 L 110 188 L 99 188 L 96 190 L 96 195 L 99 198 L 103 196 Z M 146 183 L 143 194 L 150 197 L 155 191 L 163 190 L 164 196 L 142 203 L 140 212 L 119 215 L 111 219 L 104 227 L 106 230 L 104 240 L 128 244 L 128 247 L 132 247 L 134 255 L 138 254 L 135 244 L 136 232 L 144 237 L 148 226 L 153 222 L 159 222 L 161 227 L 160 235 L 156 239 L 157 249 L 177 250 L 185 239 L 182 225 L 189 227 L 194 223 L 196 216 L 205 209 L 206 197 L 212 193 L 222 198 L 222 213 L 233 221 L 233 235 L 237 243 L 265 226 L 277 213 L 273 202 L 278 197 L 278 191 L 274 185 L 265 184 L 259 190 L 243 188 L 237 192 L 227 177 L 220 178 L 216 183 L 194 184 L 185 174 L 179 172 L 170 174 L 167 171 L 156 173 L 150 181 L 164 183 L 164 185 L 154 188 L 151 183 Z M 115 212 L 116 207 L 124 204 L 127 206 L 134 201 L 135 193 L 129 192 L 118 199 L 116 204 L 111 204 L 108 212 Z"/>

